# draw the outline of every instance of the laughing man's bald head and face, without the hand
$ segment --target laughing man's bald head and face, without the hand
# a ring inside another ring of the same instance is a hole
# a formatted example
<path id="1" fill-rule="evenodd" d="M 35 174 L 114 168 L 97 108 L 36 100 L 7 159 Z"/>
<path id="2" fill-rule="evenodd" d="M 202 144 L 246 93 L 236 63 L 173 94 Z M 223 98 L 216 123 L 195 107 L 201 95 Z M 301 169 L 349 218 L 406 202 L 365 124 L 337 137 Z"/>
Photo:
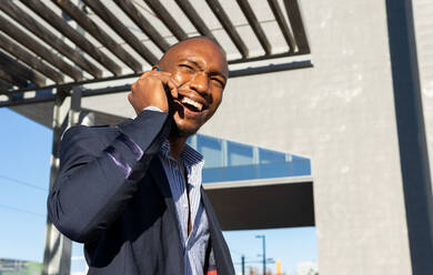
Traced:
<path id="1" fill-rule="evenodd" d="M 179 98 L 170 102 L 175 123 L 172 134 L 194 134 L 221 103 L 229 77 L 224 53 L 210 39 L 189 39 L 170 48 L 159 67 L 180 83 Z"/>

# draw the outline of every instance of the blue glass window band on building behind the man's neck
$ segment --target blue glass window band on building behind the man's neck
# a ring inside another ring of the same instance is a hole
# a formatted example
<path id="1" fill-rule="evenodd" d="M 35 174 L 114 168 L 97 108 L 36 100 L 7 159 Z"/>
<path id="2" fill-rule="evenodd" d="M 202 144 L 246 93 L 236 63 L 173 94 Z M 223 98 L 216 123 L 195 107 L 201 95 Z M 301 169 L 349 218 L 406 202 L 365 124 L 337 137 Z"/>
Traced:
<path id="1" fill-rule="evenodd" d="M 311 175 L 306 157 L 202 134 L 188 144 L 204 156 L 203 183 Z"/>

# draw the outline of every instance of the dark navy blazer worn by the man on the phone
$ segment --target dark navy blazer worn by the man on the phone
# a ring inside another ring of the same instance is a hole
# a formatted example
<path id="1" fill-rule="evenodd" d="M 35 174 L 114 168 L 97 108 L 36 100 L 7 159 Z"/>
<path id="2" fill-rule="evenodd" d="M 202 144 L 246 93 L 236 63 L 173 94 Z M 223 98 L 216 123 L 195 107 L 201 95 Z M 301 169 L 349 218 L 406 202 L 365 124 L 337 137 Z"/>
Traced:
<path id="1" fill-rule="evenodd" d="M 183 274 L 174 202 L 162 164 L 153 157 L 169 131 L 165 113 L 143 111 L 118 126 L 80 125 L 66 132 L 49 218 L 66 236 L 84 243 L 88 274 Z M 139 160 L 131 140 L 143 151 Z M 132 169 L 129 176 L 112 155 Z M 234 274 L 216 216 L 201 193 L 208 251 L 213 249 L 218 274 Z"/>

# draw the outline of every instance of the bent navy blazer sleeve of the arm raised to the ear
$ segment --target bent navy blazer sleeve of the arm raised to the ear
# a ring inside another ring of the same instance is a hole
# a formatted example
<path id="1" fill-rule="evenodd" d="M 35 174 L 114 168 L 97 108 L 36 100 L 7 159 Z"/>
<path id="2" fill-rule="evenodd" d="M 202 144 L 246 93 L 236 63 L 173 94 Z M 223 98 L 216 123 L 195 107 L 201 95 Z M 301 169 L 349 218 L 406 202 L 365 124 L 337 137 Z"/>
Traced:
<path id="1" fill-rule="evenodd" d="M 170 122 L 167 113 L 143 111 L 113 131 L 107 139 L 100 129 L 81 125 L 62 139 L 48 213 L 72 241 L 94 240 L 123 212 L 167 138 Z"/>

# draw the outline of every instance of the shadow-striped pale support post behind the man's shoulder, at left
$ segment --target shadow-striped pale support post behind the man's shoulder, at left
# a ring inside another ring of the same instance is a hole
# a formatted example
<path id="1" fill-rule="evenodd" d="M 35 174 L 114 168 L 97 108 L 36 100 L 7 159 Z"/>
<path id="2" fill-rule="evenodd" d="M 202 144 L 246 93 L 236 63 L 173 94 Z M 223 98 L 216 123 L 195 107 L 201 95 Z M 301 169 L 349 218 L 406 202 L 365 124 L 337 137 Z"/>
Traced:
<path id="1" fill-rule="evenodd" d="M 71 91 L 58 90 L 53 110 L 53 138 L 51 154 L 51 175 L 50 191 L 56 182 L 59 171 L 59 149 L 60 140 L 64 131 L 84 122 L 83 124 L 93 124 L 91 114 L 80 113 L 81 110 L 81 88 L 75 86 Z M 69 275 L 71 269 L 71 241 L 63 236 L 47 218 L 46 248 L 43 254 L 42 275 Z"/>

